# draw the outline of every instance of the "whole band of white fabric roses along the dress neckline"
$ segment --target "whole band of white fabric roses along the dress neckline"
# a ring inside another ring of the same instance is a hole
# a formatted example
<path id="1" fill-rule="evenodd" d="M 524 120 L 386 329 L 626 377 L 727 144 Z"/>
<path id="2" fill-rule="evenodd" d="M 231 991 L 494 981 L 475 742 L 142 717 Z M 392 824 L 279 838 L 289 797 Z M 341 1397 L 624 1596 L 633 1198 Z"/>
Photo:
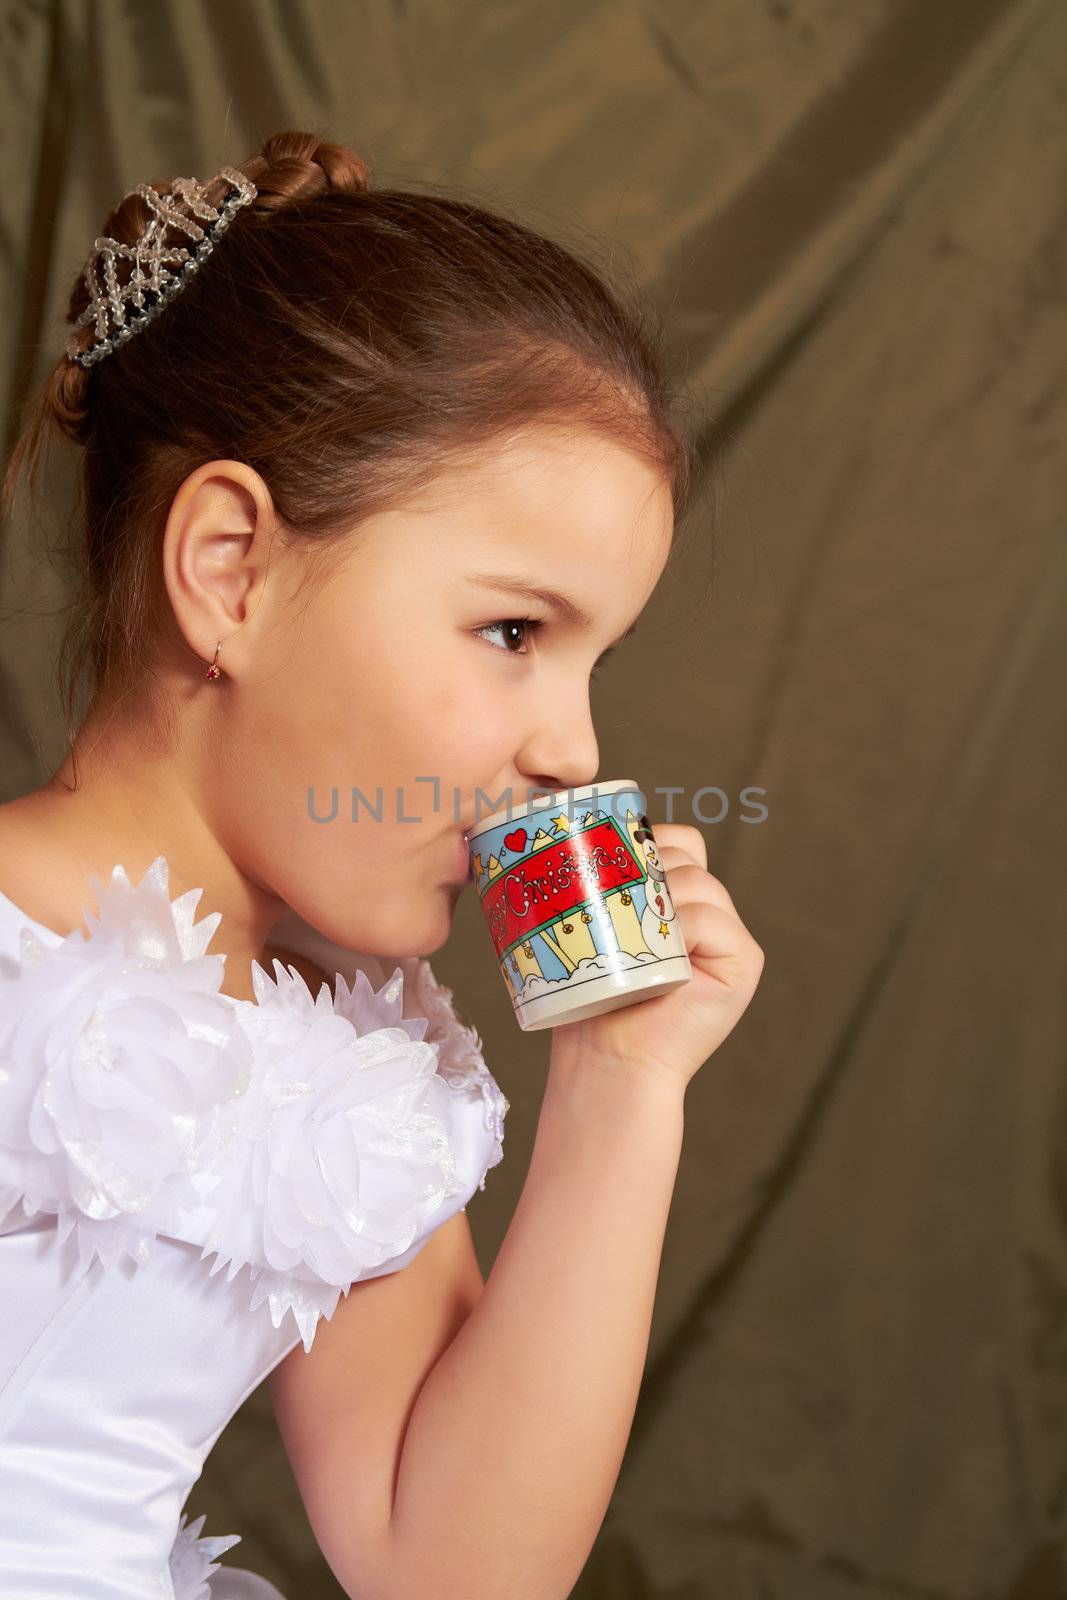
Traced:
<path id="1" fill-rule="evenodd" d="M 379 990 L 357 971 L 312 995 L 275 960 L 253 963 L 254 1000 L 219 994 L 221 917 L 194 922 L 202 890 L 170 899 L 165 856 L 93 886 L 88 938 L 24 926 L 0 981 L 0 1214 L 54 1213 L 83 1269 L 147 1261 L 157 1234 L 200 1243 L 310 1349 L 352 1282 L 502 1158 L 482 1040 L 416 957 Z"/>

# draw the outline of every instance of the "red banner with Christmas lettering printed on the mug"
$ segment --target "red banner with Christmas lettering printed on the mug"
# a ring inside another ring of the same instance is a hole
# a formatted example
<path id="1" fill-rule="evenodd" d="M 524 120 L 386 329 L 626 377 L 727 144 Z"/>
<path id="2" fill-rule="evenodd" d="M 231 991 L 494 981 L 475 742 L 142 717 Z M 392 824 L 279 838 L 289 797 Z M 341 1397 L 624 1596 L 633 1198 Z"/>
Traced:
<path id="1" fill-rule="evenodd" d="M 641 883 L 645 869 L 613 821 L 595 822 L 506 867 L 482 896 L 498 955 L 600 894 Z"/>

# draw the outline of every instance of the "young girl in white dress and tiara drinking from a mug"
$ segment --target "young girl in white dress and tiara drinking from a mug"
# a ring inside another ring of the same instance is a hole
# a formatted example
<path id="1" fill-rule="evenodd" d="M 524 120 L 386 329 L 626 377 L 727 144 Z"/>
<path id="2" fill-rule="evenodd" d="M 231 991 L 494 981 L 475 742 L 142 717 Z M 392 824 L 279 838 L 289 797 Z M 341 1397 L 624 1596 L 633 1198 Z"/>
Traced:
<path id="1" fill-rule="evenodd" d="M 507 1101 L 422 957 L 469 826 L 597 776 L 693 480 L 656 341 L 306 133 L 123 197 L 69 322 L 5 480 L 83 446 L 70 750 L 0 806 L 0 1589 L 278 1600 L 182 1512 L 269 1376 L 346 1594 L 563 1600 L 763 955 L 659 824 L 693 979 L 553 1030 L 486 1282 Z"/>

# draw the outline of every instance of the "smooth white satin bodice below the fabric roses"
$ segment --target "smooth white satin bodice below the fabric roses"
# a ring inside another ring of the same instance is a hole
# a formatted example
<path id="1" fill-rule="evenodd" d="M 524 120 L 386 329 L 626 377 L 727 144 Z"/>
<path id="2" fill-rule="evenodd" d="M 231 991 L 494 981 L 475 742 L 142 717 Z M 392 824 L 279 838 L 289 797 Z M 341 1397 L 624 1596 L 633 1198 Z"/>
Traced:
<path id="1" fill-rule="evenodd" d="M 0 1296 L 2 1592 L 173 1600 L 189 1490 L 299 1334 L 250 1314 L 246 1283 L 213 1278 L 182 1240 L 80 1272 L 46 1214 L 0 1235 Z"/>

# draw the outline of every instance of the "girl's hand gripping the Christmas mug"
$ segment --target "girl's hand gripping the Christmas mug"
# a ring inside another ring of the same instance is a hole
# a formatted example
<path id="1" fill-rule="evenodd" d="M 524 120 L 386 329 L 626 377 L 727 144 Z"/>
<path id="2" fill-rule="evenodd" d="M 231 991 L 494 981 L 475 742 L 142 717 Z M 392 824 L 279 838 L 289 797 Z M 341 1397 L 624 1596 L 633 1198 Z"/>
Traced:
<path id="1" fill-rule="evenodd" d="M 763 950 L 707 870 L 699 827 L 656 822 L 654 834 L 693 978 L 670 994 L 561 1022 L 553 1029 L 552 1054 L 566 1056 L 579 1070 L 589 1061 L 665 1074 L 685 1088 L 741 1021 L 763 973 Z"/>

